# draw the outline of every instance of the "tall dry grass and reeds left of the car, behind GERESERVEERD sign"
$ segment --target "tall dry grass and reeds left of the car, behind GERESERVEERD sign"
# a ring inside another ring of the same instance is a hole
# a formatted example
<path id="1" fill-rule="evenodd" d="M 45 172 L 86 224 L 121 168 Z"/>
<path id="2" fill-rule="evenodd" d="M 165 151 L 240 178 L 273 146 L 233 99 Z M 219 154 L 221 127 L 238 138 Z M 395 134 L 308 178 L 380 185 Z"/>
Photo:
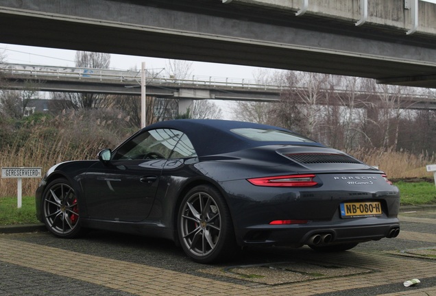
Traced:
<path id="1" fill-rule="evenodd" d="M 103 119 L 90 115 L 84 120 L 71 112 L 29 123 L 16 131 L 10 145 L 1 146 L 0 166 L 41 167 L 44 174 L 58 162 L 96 159 L 99 150 L 117 146 L 132 133 L 123 119 L 112 122 L 104 120 L 104 114 L 99 114 Z M 33 196 L 39 182 L 39 178 L 23 179 L 23 195 Z M 16 184 L 16 179 L 0 179 L 0 197 L 16 196 Z"/>

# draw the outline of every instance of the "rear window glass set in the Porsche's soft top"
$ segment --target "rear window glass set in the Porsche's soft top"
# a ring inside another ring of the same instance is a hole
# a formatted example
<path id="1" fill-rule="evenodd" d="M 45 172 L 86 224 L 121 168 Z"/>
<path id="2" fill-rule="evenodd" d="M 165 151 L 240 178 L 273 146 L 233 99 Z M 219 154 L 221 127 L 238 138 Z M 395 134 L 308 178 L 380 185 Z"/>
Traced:
<path id="1" fill-rule="evenodd" d="M 315 143 L 314 140 L 309 138 L 304 138 L 297 134 L 292 134 L 291 132 L 282 130 L 263 130 L 254 128 L 239 128 L 230 130 L 235 134 L 239 134 L 250 140 L 256 140 L 260 142 L 306 142 Z"/>

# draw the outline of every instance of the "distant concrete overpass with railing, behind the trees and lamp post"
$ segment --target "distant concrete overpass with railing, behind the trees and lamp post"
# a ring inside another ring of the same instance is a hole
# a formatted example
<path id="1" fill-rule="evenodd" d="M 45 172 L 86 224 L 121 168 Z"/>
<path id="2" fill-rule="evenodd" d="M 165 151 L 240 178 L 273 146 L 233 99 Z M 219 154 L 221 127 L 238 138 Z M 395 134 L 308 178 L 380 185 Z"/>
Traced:
<path id="1" fill-rule="evenodd" d="M 60 66 L 37 66 L 26 64 L 0 64 L 0 72 L 8 83 L 6 88 L 72 93 L 105 93 L 112 95 L 141 95 L 141 73 L 109 69 L 84 69 Z M 219 99 L 224 101 L 280 101 L 286 86 L 258 84 L 250 79 L 228 77 L 193 76 L 187 79 L 147 73 L 147 95 L 179 100 L 179 114 L 192 107 L 193 100 Z M 306 88 L 295 91 L 304 92 Z M 324 90 L 330 93 L 331 90 Z M 336 89 L 335 95 L 347 97 L 347 90 Z M 379 94 L 357 91 L 356 101 L 377 101 Z M 393 96 L 397 96 L 392 94 Z M 327 97 L 327 95 L 326 95 Z M 427 95 L 402 94 L 402 106 L 415 110 L 436 110 L 436 98 Z M 322 99 L 319 103 L 323 103 Z M 365 108 L 365 106 L 356 106 Z"/>

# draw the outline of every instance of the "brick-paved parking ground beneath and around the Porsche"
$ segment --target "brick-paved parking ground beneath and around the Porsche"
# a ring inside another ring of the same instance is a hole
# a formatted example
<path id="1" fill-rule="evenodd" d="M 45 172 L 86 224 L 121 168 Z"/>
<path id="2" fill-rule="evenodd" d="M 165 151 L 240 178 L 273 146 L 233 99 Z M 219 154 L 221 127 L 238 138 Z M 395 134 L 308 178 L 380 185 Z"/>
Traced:
<path id="1" fill-rule="evenodd" d="M 221 265 L 156 238 L 0 227 L 0 295 L 436 295 L 436 208 L 404 208 L 400 220 L 398 238 L 340 254 L 250 248 Z"/>

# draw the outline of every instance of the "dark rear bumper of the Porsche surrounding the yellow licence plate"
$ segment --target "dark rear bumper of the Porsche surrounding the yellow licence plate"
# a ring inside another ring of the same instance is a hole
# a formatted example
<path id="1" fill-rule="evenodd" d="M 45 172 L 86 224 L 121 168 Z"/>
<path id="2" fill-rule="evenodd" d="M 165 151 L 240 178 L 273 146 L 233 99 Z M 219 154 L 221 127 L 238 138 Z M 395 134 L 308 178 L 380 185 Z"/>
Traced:
<path id="1" fill-rule="evenodd" d="M 335 175 L 323 175 L 327 180 Z M 340 177 L 340 175 L 339 175 Z M 247 181 L 223 183 L 239 245 L 315 245 L 312 236 L 327 235 L 328 243 L 360 243 L 398 235 L 400 195 L 385 180 L 374 184 L 325 182 L 322 186 L 288 188 L 253 186 Z M 344 181 L 348 182 L 348 181 Z M 342 189 L 342 190 L 341 190 Z M 239 194 L 236 194 L 239 193 Z M 343 217 L 341 204 L 378 202 L 376 217 Z M 307 221 L 271 225 L 271 221 Z M 321 242 L 322 243 L 322 242 Z"/>

